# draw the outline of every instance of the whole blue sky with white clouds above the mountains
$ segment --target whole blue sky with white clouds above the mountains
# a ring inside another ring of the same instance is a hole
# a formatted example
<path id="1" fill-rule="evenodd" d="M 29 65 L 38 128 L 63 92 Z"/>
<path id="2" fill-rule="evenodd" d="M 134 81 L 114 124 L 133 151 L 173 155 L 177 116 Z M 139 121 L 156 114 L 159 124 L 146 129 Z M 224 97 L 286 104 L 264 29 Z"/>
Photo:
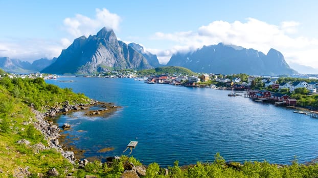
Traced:
<path id="1" fill-rule="evenodd" d="M 318 1 L 0 1 L 0 56 L 58 56 L 81 35 L 113 28 L 162 63 L 177 51 L 226 44 L 318 68 Z"/>

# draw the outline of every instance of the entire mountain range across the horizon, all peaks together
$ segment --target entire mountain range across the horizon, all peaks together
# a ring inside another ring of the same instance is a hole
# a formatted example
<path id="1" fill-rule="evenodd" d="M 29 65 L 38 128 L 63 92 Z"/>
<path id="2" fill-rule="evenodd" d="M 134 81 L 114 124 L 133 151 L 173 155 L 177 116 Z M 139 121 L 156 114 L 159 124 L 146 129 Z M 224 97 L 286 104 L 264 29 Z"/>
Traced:
<path id="1" fill-rule="evenodd" d="M 121 69 L 152 69 L 163 67 L 155 54 L 137 43 L 119 41 L 112 31 L 103 27 L 96 35 L 81 36 L 63 49 L 53 60 L 42 58 L 29 62 L 0 57 L 0 68 L 12 73 L 95 74 Z M 264 54 L 241 46 L 203 46 L 196 51 L 173 54 L 166 66 L 180 66 L 194 72 L 246 73 L 257 75 L 294 74 L 283 54 L 270 49 Z"/>

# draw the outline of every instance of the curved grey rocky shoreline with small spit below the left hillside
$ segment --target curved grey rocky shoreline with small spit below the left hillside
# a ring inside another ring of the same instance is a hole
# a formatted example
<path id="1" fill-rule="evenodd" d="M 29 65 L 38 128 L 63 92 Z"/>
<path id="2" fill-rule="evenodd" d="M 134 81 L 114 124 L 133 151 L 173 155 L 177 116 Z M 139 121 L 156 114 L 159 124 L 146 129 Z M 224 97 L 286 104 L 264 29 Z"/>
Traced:
<path id="1" fill-rule="evenodd" d="M 89 108 L 93 106 L 102 106 L 105 109 L 98 111 L 89 111 Z M 63 145 L 59 143 L 59 139 L 61 138 L 60 132 L 62 132 L 62 129 L 60 129 L 60 127 L 62 126 L 59 127 L 56 125 L 56 123 L 48 121 L 48 118 L 57 114 L 65 114 L 68 112 L 76 112 L 79 110 L 86 110 L 85 113 L 89 116 L 97 116 L 101 114 L 108 115 L 116 112 L 119 108 L 121 107 L 113 105 L 113 103 L 105 103 L 93 99 L 90 99 L 88 104 L 80 103 L 75 105 L 70 105 L 68 101 L 65 101 L 62 106 L 51 107 L 44 113 L 34 109 L 34 107 L 31 105 L 31 110 L 35 114 L 36 120 L 34 122 L 34 127 L 44 135 L 44 138 L 48 141 L 49 144 L 49 146 L 43 148 L 43 150 L 55 149 L 72 164 L 75 164 L 76 161 L 79 160 L 76 158 L 76 154 L 73 151 L 64 150 L 65 147 L 63 147 Z M 93 114 L 93 112 L 95 113 Z"/>

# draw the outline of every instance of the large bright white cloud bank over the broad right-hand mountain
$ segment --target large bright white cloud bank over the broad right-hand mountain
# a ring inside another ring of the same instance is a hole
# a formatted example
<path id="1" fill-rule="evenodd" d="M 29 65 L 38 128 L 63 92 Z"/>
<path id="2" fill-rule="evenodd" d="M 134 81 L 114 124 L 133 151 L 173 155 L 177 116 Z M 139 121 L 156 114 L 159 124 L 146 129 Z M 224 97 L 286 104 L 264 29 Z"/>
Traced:
<path id="1" fill-rule="evenodd" d="M 212 45 L 219 42 L 233 44 L 245 48 L 254 48 L 267 53 L 270 48 L 281 51 L 286 61 L 318 68 L 316 50 L 318 39 L 305 36 L 294 36 L 300 23 L 285 21 L 280 25 L 268 24 L 266 22 L 247 18 L 246 22 L 213 21 L 208 25 L 200 26 L 196 31 L 161 33 L 157 32 L 153 40 L 173 41 L 177 46 L 168 50 L 151 49 L 165 61 L 178 49 L 197 49 L 203 45 Z M 293 35 L 293 36 L 291 36 Z M 155 52 L 156 51 L 156 52 Z M 169 51 L 169 52 L 167 52 Z"/>

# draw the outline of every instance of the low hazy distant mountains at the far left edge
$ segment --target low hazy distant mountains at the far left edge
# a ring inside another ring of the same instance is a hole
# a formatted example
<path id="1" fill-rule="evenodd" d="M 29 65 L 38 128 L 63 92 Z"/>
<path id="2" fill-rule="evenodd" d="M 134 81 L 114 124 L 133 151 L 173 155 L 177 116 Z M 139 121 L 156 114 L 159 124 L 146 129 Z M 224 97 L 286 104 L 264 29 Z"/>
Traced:
<path id="1" fill-rule="evenodd" d="M 26 61 L 11 59 L 10 57 L 0 57 L 0 68 L 10 73 L 34 73 L 48 67 L 53 62 L 55 62 L 54 58 L 53 60 L 40 58 L 31 64 Z"/>

